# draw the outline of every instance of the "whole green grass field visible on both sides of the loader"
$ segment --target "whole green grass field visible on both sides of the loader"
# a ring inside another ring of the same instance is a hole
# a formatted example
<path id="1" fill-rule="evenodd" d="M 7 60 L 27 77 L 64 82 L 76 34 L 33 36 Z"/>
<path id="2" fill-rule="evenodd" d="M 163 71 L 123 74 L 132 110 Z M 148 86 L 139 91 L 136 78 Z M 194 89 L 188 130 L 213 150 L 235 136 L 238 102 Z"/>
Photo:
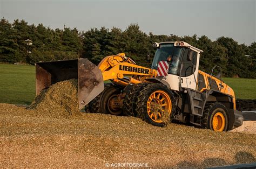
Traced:
<path id="1" fill-rule="evenodd" d="M 256 98 L 256 79 L 223 78 L 237 98 Z M 30 104 L 36 95 L 35 66 L 0 64 L 0 103 Z"/>

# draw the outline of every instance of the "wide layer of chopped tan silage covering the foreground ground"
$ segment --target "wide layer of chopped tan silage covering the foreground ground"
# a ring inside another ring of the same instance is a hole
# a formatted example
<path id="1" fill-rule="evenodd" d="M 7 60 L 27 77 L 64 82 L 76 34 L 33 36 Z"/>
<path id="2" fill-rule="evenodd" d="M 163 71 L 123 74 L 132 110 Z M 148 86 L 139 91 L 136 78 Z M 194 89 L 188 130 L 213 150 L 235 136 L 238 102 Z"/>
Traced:
<path id="1" fill-rule="evenodd" d="M 256 135 L 139 118 L 78 113 L 49 116 L 0 103 L 0 167 L 213 167 L 253 163 Z"/>

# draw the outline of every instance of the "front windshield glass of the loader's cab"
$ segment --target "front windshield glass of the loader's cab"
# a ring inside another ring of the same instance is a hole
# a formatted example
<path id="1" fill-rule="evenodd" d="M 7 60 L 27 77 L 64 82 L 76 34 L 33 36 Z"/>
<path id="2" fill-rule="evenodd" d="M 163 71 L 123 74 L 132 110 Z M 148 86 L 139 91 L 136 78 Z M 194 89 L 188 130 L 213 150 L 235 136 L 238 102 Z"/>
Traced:
<path id="1" fill-rule="evenodd" d="M 174 46 L 174 44 L 162 44 L 157 48 L 152 62 L 152 69 L 158 68 L 159 61 L 167 61 L 169 64 L 168 74 L 178 74 L 178 65 L 181 53 L 185 48 Z"/>

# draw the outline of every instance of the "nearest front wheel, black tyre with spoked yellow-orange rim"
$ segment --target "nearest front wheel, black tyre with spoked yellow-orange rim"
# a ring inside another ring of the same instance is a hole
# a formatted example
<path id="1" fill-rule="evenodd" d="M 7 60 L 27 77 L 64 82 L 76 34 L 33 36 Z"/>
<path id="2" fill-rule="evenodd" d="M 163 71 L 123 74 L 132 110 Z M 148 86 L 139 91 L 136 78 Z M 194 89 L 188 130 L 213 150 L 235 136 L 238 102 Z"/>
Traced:
<path id="1" fill-rule="evenodd" d="M 151 83 L 140 90 L 137 97 L 135 112 L 138 117 L 156 126 L 170 123 L 176 105 L 174 94 L 165 85 Z"/>

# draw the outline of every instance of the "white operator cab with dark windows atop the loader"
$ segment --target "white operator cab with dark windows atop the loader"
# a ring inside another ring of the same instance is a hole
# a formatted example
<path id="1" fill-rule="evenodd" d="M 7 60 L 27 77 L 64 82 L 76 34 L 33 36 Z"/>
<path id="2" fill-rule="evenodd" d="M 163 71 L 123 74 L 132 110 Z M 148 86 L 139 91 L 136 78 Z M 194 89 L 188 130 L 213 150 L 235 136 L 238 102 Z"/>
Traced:
<path id="1" fill-rule="evenodd" d="M 169 65 L 165 81 L 171 84 L 171 88 L 179 90 L 179 84 L 183 88 L 195 88 L 198 75 L 200 52 L 196 47 L 184 41 L 168 41 L 153 43 L 157 48 L 151 69 L 158 70 L 159 62 L 166 61 Z M 159 71 L 161 67 L 159 67 Z"/>

